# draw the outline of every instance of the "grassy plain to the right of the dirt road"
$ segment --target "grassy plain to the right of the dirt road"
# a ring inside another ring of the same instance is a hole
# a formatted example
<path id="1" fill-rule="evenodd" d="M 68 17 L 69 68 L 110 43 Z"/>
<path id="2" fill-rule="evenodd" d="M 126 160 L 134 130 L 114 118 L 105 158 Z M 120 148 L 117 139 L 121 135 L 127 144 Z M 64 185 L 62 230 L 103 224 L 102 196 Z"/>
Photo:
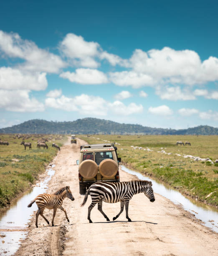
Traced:
<path id="1" fill-rule="evenodd" d="M 218 164 L 183 157 L 185 154 L 215 161 L 218 159 L 218 136 L 94 135 L 79 137 L 88 143 L 116 141 L 120 144 L 117 144 L 117 152 L 123 164 L 170 184 L 180 192 L 195 197 L 196 200 L 218 207 Z M 176 141 L 184 143 L 189 141 L 191 146 L 176 146 Z M 142 147 L 142 149 L 134 149 L 131 146 Z M 161 151 L 171 154 L 164 154 Z"/>

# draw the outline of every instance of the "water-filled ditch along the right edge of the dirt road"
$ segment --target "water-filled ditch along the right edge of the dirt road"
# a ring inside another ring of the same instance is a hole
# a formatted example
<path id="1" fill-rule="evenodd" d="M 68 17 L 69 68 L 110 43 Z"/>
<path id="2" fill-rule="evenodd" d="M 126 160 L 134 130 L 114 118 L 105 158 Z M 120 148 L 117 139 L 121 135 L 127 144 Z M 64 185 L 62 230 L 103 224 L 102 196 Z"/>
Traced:
<path id="1" fill-rule="evenodd" d="M 167 187 L 160 182 L 155 181 L 154 179 L 150 179 L 149 177 L 145 177 L 139 172 L 132 171 L 128 169 L 126 166 L 121 166 L 124 172 L 129 174 L 136 175 L 139 179 L 142 180 L 149 180 L 152 182 L 152 188 L 155 193 L 162 195 L 173 203 L 177 205 L 182 205 L 183 208 L 192 214 L 195 215 L 196 218 L 202 220 L 204 222 L 203 225 L 207 226 L 208 228 L 212 229 L 215 232 L 218 232 L 218 209 L 215 207 L 210 207 L 205 205 L 204 203 L 190 200 L 183 196 L 180 192 Z"/>

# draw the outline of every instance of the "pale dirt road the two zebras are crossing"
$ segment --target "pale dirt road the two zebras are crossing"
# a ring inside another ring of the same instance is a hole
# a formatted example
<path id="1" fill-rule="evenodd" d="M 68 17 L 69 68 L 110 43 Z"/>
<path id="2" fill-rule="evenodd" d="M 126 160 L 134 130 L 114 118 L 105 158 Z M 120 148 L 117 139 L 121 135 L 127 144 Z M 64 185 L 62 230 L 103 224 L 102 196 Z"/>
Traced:
<path id="1" fill-rule="evenodd" d="M 123 212 L 116 221 L 106 222 L 97 206 L 87 220 L 90 196 L 86 205 L 80 204 L 84 196 L 79 194 L 78 166 L 80 145 L 66 143 L 54 159 L 56 173 L 47 193 L 69 185 L 75 200 L 64 200 L 70 223 L 61 210 L 56 213 L 55 227 L 47 225 L 39 216 L 35 228 L 35 214 L 30 221 L 28 237 L 15 255 L 218 255 L 218 234 L 201 225 L 190 213 L 170 200 L 155 194 L 151 203 L 144 194 L 135 195 L 129 203 L 127 222 Z M 134 179 L 120 170 L 121 181 Z M 103 210 L 112 220 L 120 210 L 120 204 L 103 203 Z M 45 210 L 51 223 L 53 210 Z"/>

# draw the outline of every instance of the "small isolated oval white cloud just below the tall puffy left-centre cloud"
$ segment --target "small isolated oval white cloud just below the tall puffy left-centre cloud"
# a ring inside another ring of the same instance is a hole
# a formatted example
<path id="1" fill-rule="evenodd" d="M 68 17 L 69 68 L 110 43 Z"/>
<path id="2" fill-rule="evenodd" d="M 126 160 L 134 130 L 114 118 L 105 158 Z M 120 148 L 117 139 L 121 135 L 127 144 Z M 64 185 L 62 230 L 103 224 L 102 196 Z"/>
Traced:
<path id="1" fill-rule="evenodd" d="M 104 84 L 108 82 L 106 75 L 97 69 L 76 69 L 76 72 L 63 72 L 60 77 L 79 84 Z"/>

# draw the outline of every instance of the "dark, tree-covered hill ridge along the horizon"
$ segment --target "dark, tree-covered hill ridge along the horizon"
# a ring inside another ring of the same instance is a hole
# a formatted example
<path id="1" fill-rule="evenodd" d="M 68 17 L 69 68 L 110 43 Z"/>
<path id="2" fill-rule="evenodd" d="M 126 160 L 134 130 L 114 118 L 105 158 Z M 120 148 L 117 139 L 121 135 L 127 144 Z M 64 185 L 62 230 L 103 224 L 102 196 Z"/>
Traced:
<path id="1" fill-rule="evenodd" d="M 53 122 L 33 119 L 0 129 L 0 133 L 43 134 L 147 134 L 147 135 L 218 135 L 218 128 L 199 125 L 188 129 L 151 128 L 138 124 L 117 123 L 98 118 L 83 118 L 72 122 Z"/>

